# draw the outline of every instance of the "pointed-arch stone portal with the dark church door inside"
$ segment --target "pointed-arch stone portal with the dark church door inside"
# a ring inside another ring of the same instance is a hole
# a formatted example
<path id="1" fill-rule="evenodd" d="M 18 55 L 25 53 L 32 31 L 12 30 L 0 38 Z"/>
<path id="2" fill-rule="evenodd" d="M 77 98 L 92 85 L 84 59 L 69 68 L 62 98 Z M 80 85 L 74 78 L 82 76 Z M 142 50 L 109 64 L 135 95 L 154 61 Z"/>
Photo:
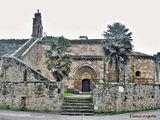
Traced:
<path id="1" fill-rule="evenodd" d="M 89 65 L 79 66 L 74 74 L 74 88 L 81 92 L 92 91 L 92 83 L 99 82 L 99 74 L 97 71 Z M 88 82 L 84 82 L 88 81 Z M 85 84 L 86 83 L 86 84 Z M 87 90 L 85 90 L 85 89 Z"/>

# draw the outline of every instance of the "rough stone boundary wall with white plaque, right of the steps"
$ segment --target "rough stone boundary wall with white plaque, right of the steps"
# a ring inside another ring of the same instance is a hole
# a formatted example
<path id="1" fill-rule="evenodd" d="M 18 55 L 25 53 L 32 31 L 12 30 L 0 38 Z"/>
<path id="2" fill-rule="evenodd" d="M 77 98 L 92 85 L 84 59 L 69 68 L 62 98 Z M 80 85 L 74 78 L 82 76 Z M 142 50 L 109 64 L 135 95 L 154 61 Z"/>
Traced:
<path id="1" fill-rule="evenodd" d="M 93 84 L 96 112 L 160 108 L 160 84 Z"/>

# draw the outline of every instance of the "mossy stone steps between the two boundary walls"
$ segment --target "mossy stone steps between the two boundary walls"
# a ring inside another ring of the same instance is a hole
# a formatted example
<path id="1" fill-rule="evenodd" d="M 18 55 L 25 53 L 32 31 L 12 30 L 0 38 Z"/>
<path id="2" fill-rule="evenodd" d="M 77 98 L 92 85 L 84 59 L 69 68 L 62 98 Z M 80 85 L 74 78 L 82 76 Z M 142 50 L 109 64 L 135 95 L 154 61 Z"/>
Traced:
<path id="1" fill-rule="evenodd" d="M 64 98 L 61 115 L 94 115 L 92 98 L 89 95 L 75 95 Z"/>

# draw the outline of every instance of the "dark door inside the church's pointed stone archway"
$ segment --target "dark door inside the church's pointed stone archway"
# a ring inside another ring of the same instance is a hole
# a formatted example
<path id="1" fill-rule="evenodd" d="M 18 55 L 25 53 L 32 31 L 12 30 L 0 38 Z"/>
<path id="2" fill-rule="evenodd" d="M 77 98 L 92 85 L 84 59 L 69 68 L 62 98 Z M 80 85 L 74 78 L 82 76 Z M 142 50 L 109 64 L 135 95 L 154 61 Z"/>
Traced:
<path id="1" fill-rule="evenodd" d="M 82 80 L 82 92 L 90 92 L 90 80 L 89 79 Z"/>

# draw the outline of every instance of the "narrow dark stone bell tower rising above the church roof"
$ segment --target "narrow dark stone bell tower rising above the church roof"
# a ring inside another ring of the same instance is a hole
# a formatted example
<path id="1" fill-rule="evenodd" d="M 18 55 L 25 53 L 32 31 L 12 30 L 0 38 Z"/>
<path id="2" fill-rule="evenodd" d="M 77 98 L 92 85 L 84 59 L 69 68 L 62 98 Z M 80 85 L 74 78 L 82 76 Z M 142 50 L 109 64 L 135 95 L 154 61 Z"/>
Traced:
<path id="1" fill-rule="evenodd" d="M 42 33 L 43 33 L 43 27 L 42 27 L 42 21 L 41 21 L 41 13 L 39 13 L 39 9 L 38 9 L 37 13 L 34 14 L 31 36 L 41 38 Z"/>

